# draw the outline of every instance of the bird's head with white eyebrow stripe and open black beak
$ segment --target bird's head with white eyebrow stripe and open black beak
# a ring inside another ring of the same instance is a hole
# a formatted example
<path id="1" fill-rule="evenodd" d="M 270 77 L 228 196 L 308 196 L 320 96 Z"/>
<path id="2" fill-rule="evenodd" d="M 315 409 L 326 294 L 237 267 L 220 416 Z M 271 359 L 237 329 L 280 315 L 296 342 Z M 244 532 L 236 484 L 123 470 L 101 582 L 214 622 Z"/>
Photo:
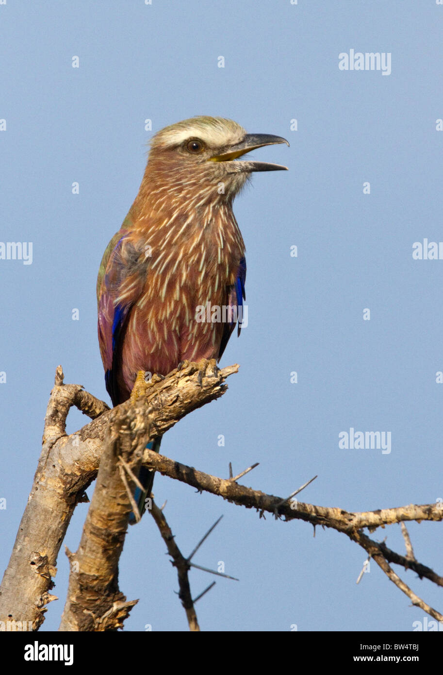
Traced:
<path id="1" fill-rule="evenodd" d="M 232 200 L 253 171 L 287 169 L 280 164 L 239 160 L 264 145 L 289 142 L 270 134 L 247 134 L 232 119 L 192 117 L 165 127 L 151 140 L 145 179 L 168 190 L 173 200 Z"/>

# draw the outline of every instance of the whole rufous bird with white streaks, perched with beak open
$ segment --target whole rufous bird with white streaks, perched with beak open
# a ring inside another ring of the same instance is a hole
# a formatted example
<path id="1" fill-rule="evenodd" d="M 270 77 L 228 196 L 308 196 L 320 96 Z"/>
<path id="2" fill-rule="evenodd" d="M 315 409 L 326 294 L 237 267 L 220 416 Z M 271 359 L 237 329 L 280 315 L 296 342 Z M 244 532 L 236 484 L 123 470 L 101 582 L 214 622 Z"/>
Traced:
<path id="1" fill-rule="evenodd" d="M 134 396 L 136 381 L 164 377 L 185 361 L 220 360 L 245 300 L 245 244 L 233 200 L 255 171 L 279 164 L 238 159 L 289 142 L 248 134 L 231 119 L 198 115 L 150 141 L 138 194 L 102 257 L 97 278 L 98 342 L 113 406 Z M 228 308 L 220 321 L 197 308 Z M 201 319 L 200 315 L 200 319 Z M 148 374 L 148 375 L 146 375 Z M 160 437 L 148 443 L 158 452 Z M 134 499 L 140 520 L 154 471 L 141 466 Z"/>

